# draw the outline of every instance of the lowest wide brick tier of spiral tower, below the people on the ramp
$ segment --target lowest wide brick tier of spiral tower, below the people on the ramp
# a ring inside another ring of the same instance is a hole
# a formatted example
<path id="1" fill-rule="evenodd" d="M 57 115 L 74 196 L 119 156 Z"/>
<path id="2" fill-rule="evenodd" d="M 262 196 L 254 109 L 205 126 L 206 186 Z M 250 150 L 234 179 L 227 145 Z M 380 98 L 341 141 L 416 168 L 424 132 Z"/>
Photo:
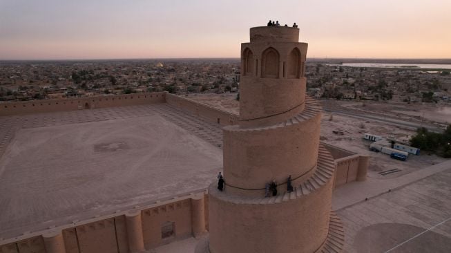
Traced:
<path id="1" fill-rule="evenodd" d="M 315 173 L 294 191 L 236 196 L 210 185 L 210 252 L 316 252 L 329 232 L 334 168 L 332 156 L 320 147 Z"/>

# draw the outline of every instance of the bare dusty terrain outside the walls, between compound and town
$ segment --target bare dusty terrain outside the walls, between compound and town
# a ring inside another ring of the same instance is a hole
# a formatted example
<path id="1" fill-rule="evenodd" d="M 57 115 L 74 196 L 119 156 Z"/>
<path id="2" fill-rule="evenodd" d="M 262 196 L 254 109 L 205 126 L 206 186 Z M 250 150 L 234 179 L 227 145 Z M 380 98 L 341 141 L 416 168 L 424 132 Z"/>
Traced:
<path id="1" fill-rule="evenodd" d="M 215 106 L 224 111 L 238 113 L 240 104 L 236 100 L 236 94 L 237 93 L 191 94 L 186 97 L 191 100 Z M 392 117 L 402 120 L 403 122 L 414 122 L 416 124 L 421 124 L 423 121 L 432 126 L 443 127 L 443 122 L 446 118 L 441 117 L 441 115 L 447 113 L 448 110 L 451 112 L 450 106 L 436 106 L 433 104 L 387 104 L 381 102 L 363 103 L 336 100 L 321 100 L 321 103 L 323 104 L 323 108 L 326 109 L 339 108 L 343 111 L 355 113 L 356 115 L 374 115 L 375 117 L 381 118 L 381 121 L 377 121 L 365 118 L 353 118 L 348 115 L 338 115 L 336 113 L 323 111 L 323 118 L 321 120 L 321 141 L 342 149 L 347 149 L 354 153 L 372 157 L 370 160 L 370 171 L 373 171 L 374 173 L 368 174 L 369 177 L 392 178 L 402 176 L 412 171 L 445 161 L 443 158 L 424 151 L 420 152 L 420 156 L 411 155 L 405 162 L 394 160 L 383 153 L 374 153 L 370 151 L 369 148 L 372 142 L 363 140 L 363 135 L 365 133 L 372 133 L 381 135 L 385 138 L 396 138 L 408 141 L 415 133 L 414 129 L 412 127 L 383 122 L 384 117 Z M 407 114 L 396 113 L 396 111 L 407 112 Z M 424 113 L 425 117 L 423 120 L 417 116 L 409 115 L 409 113 L 418 114 L 423 111 L 428 112 Z M 433 120 L 434 118 L 439 118 L 441 120 L 435 122 Z M 451 122 L 451 114 L 449 122 Z M 334 131 L 341 133 L 336 134 Z M 385 176 L 379 174 L 379 172 L 390 171 L 392 169 L 396 169 L 397 172 Z"/>

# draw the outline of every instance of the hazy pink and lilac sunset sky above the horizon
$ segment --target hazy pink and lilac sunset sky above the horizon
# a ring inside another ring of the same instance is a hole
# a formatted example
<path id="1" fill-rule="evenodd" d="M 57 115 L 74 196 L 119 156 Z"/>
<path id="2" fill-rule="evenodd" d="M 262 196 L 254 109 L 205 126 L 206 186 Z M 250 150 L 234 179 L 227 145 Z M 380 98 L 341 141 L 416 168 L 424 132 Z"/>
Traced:
<path id="1" fill-rule="evenodd" d="M 0 59 L 239 57 L 269 19 L 307 57 L 451 58 L 451 0 L 0 0 Z"/>

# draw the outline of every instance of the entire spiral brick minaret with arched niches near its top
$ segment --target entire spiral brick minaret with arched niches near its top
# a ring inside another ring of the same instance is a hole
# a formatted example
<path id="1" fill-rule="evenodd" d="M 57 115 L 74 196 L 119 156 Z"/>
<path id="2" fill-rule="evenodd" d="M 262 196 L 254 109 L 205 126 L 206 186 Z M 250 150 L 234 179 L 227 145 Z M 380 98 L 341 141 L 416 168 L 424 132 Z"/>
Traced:
<path id="1" fill-rule="evenodd" d="M 307 44 L 298 28 L 250 35 L 241 44 L 240 122 L 223 133 L 226 185 L 209 187 L 209 238 L 197 252 L 340 252 L 334 160 L 320 145 L 320 104 L 305 96 Z M 278 194 L 265 197 L 273 180 Z"/>

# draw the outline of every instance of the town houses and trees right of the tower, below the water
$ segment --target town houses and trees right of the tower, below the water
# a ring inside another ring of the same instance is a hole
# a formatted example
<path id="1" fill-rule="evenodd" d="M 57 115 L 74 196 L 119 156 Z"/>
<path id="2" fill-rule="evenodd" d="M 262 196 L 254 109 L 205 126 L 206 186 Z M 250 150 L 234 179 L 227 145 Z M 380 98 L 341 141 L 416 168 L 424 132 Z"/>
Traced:
<path id="1" fill-rule="evenodd" d="M 451 75 L 443 73 L 448 72 L 307 64 L 307 93 L 316 98 L 448 103 Z"/>

